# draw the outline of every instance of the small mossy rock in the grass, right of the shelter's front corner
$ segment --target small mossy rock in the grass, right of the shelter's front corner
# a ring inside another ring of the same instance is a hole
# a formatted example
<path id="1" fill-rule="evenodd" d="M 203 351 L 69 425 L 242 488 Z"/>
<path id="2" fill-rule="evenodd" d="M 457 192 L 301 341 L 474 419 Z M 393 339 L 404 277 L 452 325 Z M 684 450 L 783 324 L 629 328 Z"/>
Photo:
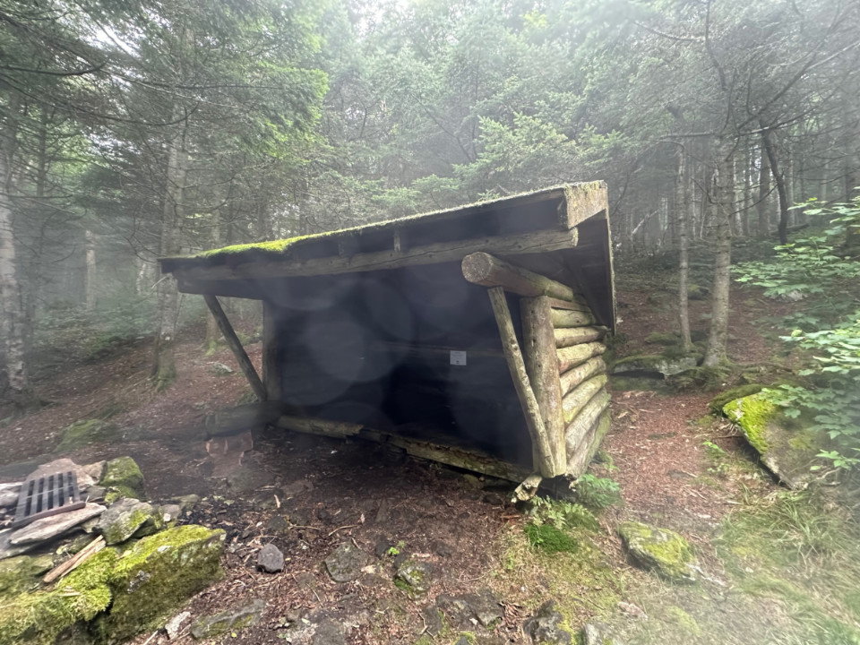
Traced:
<path id="1" fill-rule="evenodd" d="M 641 522 L 624 522 L 618 534 L 633 561 L 667 581 L 693 582 L 698 570 L 690 544 L 669 529 Z"/>

